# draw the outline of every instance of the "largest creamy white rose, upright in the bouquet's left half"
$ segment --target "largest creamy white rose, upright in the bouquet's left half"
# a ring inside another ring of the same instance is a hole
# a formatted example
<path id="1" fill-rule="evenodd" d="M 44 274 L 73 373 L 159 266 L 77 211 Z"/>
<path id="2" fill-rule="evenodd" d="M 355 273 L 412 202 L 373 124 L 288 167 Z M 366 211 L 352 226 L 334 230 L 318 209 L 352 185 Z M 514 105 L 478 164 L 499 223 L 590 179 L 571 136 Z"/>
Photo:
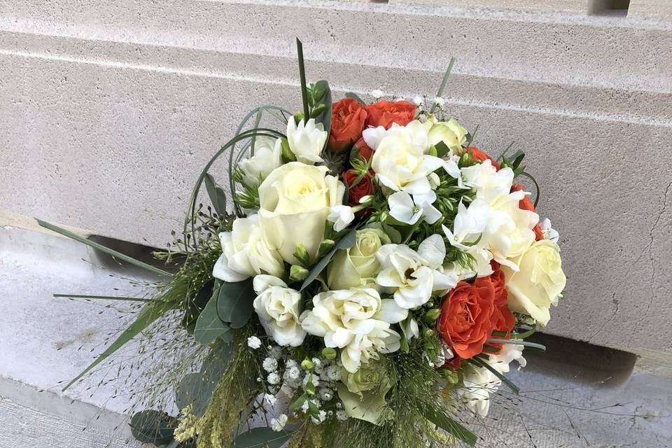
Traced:
<path id="1" fill-rule="evenodd" d="M 290 162 L 276 168 L 259 186 L 259 222 L 269 248 L 296 265 L 297 243 L 314 256 L 324 237 L 331 207 L 340 205 L 345 186 L 327 167 Z"/>

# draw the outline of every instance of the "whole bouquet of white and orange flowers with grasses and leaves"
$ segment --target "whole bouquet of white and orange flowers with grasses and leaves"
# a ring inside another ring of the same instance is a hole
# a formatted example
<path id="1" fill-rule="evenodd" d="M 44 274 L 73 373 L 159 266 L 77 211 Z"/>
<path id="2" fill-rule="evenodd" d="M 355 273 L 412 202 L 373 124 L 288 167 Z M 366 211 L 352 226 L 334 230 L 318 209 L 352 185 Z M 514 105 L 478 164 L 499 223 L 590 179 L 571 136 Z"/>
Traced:
<path id="1" fill-rule="evenodd" d="M 40 221 L 163 279 L 128 297 L 143 302 L 134 321 L 66 387 L 130 339 L 160 337 L 175 345 L 149 369 L 171 380 L 154 392 L 175 389 L 179 412 L 134 414 L 141 442 L 472 446 L 468 426 L 502 383 L 517 393 L 504 374 L 543 349 L 524 339 L 566 282 L 558 234 L 518 179 L 536 182 L 522 153 L 493 160 L 450 117 L 450 68 L 431 99 L 332 102 L 297 47 L 302 111 L 246 116 L 155 253 L 165 269 Z M 231 200 L 209 174 L 222 156 Z"/>

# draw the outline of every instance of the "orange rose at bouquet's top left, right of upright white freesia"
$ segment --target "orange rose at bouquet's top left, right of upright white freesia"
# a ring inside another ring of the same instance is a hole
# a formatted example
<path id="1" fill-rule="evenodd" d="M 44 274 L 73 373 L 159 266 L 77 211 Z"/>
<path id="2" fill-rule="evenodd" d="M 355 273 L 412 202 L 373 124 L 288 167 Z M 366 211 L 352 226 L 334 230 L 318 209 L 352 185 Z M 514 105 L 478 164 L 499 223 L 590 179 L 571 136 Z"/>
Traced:
<path id="1" fill-rule="evenodd" d="M 366 111 L 356 99 L 344 98 L 335 102 L 332 105 L 329 149 L 336 152 L 344 151 L 360 139 L 366 115 Z"/>

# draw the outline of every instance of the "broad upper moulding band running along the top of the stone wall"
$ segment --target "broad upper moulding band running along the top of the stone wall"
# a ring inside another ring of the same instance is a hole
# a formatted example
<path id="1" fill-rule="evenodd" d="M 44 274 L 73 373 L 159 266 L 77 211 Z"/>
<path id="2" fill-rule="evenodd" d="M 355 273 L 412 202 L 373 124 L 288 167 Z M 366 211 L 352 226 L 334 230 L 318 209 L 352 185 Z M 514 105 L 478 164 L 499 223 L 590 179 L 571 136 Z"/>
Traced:
<path id="1" fill-rule="evenodd" d="M 25 3 L 0 11 L 0 29 L 275 57 L 294 57 L 299 36 L 314 61 L 443 71 L 456 56 L 455 73 L 672 92 L 672 76 L 664 71 L 672 61 L 672 24 L 653 27 L 647 20 L 629 20 L 629 26 L 606 18 L 569 20 L 572 15 L 501 20 L 491 12 L 438 15 L 428 8 L 353 2 L 122 0 L 94 13 L 76 0 L 59 1 L 59 9 Z"/>

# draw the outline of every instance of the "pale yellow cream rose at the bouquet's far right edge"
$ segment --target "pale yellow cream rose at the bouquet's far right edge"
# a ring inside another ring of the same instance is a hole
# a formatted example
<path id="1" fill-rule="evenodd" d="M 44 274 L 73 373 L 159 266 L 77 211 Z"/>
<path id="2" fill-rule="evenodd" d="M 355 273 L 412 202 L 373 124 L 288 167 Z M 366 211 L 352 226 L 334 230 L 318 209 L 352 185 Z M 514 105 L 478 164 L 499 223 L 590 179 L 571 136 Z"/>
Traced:
<path id="1" fill-rule="evenodd" d="M 560 248 L 549 239 L 535 241 L 514 262 L 519 272 L 502 266 L 509 308 L 529 314 L 545 326 L 551 317 L 549 308 L 567 282 L 562 272 Z"/>

